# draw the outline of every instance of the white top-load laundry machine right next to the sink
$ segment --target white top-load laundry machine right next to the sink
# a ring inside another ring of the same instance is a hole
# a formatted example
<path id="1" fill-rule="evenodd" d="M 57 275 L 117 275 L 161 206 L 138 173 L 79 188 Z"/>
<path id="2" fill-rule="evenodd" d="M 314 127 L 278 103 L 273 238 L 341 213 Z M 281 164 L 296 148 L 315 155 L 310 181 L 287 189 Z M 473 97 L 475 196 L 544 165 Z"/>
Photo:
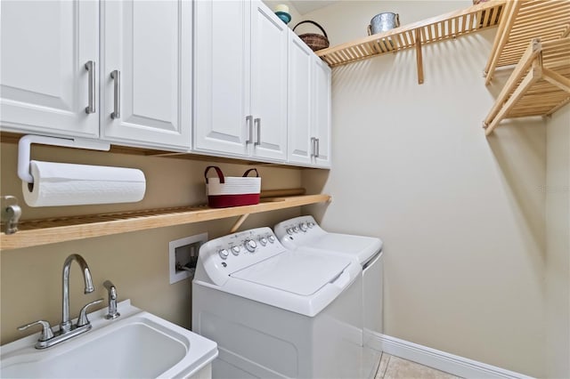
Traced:
<path id="1" fill-rule="evenodd" d="M 218 344 L 212 376 L 360 377 L 361 270 L 291 251 L 270 228 L 208 241 L 192 281 L 192 330 Z"/>

